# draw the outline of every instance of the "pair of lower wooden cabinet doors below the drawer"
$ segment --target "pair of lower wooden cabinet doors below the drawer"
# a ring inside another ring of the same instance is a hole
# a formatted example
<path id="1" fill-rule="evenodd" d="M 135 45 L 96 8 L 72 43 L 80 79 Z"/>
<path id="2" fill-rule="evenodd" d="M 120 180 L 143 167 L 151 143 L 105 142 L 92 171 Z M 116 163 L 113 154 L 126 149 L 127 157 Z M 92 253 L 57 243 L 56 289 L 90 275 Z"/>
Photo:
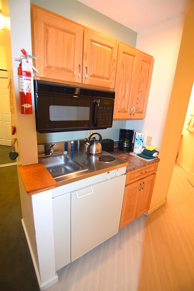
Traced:
<path id="1" fill-rule="evenodd" d="M 119 230 L 149 210 L 155 179 L 156 173 L 125 186 Z"/>

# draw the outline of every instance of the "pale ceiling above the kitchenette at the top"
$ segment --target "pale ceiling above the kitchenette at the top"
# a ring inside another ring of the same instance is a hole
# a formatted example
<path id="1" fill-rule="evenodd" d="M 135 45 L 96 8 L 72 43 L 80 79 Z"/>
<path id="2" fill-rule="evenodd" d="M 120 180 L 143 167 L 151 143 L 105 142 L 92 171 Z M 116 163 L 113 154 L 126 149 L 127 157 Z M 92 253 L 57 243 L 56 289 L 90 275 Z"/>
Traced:
<path id="1" fill-rule="evenodd" d="M 78 0 L 90 8 L 141 31 L 186 12 L 187 0 Z"/>

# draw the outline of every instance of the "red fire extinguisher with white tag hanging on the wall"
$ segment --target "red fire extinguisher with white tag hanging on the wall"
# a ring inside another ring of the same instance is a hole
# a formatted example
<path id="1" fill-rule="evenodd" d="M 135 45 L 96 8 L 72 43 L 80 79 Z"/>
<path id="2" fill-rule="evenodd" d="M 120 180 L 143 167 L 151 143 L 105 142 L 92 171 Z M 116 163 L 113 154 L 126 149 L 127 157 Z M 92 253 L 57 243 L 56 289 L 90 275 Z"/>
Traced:
<path id="1" fill-rule="evenodd" d="M 18 86 L 19 86 L 19 100 L 20 100 L 20 112 L 22 114 L 32 114 L 32 96 L 31 96 L 31 75 L 32 58 L 36 56 L 27 55 L 25 49 L 21 50 L 23 55 L 16 61 L 21 61 L 18 67 Z M 36 72 L 38 72 L 35 69 Z"/>

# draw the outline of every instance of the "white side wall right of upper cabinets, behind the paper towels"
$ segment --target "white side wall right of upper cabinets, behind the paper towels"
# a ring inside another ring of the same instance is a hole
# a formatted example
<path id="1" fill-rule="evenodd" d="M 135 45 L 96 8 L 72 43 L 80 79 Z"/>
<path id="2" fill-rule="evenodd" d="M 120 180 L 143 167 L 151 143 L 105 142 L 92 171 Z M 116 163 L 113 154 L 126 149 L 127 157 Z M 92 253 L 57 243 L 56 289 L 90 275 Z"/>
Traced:
<path id="1" fill-rule="evenodd" d="M 126 127 L 152 136 L 152 145 L 160 149 L 166 120 L 184 17 L 179 16 L 154 27 L 138 32 L 136 48 L 155 59 L 149 101 L 145 120 L 127 121 Z"/>

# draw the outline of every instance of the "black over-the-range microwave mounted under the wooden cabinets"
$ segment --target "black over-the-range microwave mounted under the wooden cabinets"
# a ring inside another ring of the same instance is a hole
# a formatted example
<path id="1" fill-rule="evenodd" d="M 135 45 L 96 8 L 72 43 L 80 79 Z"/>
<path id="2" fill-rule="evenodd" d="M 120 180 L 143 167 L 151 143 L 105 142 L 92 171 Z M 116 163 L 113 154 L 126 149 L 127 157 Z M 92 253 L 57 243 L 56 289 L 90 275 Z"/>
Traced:
<path id="1" fill-rule="evenodd" d="M 40 133 L 112 127 L 115 92 L 34 80 Z"/>

